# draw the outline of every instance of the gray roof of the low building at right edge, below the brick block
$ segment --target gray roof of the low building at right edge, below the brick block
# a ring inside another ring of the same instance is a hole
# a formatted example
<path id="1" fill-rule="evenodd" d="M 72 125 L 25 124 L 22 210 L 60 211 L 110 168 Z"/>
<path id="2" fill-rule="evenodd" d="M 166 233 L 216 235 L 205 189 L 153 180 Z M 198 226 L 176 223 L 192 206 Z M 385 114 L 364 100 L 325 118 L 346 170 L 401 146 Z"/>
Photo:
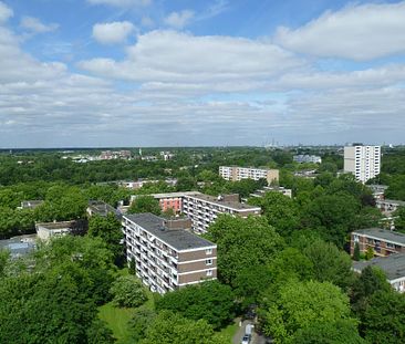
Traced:
<path id="1" fill-rule="evenodd" d="M 353 270 L 362 271 L 368 265 L 382 269 L 391 281 L 405 278 L 405 253 L 373 258 L 368 261 L 356 261 L 353 262 Z"/>

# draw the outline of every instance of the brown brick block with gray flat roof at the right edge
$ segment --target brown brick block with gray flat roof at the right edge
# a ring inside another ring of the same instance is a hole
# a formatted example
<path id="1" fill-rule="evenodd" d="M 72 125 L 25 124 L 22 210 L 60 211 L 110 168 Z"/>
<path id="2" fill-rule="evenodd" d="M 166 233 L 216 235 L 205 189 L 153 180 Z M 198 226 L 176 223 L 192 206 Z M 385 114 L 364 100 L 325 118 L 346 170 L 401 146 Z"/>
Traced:
<path id="1" fill-rule="evenodd" d="M 386 229 L 368 228 L 352 232 L 351 254 L 353 254 L 356 243 L 359 243 L 361 252 L 366 252 L 368 248 L 372 248 L 377 257 L 405 253 L 405 234 Z"/>

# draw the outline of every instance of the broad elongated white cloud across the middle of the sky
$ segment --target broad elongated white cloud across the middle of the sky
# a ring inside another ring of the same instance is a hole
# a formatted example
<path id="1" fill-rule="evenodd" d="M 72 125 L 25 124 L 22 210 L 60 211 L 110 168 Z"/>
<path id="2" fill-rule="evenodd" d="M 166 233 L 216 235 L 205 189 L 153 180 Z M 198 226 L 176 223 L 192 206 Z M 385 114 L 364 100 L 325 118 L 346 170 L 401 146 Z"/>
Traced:
<path id="1" fill-rule="evenodd" d="M 139 35 L 121 62 L 93 59 L 79 64 L 106 77 L 210 84 L 263 81 L 300 65 L 301 60 L 268 42 L 175 31 Z"/>

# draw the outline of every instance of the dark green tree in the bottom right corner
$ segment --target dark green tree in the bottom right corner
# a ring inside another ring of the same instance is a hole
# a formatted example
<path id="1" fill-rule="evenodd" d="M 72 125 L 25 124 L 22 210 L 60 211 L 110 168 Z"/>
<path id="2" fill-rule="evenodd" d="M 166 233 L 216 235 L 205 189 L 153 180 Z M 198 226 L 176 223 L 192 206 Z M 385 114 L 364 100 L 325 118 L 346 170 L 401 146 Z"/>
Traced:
<path id="1" fill-rule="evenodd" d="M 361 321 L 368 343 L 404 343 L 405 295 L 394 291 L 375 292 Z"/>

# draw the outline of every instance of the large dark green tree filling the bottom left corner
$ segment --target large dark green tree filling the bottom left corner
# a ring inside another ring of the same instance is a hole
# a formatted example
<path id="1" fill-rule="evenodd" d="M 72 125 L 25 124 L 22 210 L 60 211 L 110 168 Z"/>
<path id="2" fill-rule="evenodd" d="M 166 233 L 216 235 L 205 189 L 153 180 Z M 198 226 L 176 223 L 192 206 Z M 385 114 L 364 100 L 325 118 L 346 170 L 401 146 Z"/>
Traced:
<path id="1" fill-rule="evenodd" d="M 8 278 L 0 295 L 1 343 L 87 343 L 96 307 L 69 274 Z"/>

